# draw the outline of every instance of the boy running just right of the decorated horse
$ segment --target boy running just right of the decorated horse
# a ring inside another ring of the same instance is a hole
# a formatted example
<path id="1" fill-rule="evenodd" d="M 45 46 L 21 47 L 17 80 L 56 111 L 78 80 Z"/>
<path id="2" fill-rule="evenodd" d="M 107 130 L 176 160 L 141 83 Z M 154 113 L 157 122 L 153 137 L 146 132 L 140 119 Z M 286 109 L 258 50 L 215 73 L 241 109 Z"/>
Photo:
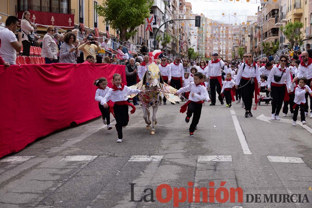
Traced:
<path id="1" fill-rule="evenodd" d="M 186 123 L 190 121 L 192 114 L 194 115 L 192 123 L 189 128 L 190 137 L 194 137 L 194 131 L 199 122 L 200 114 L 202 112 L 203 100 L 206 99 L 207 102 L 211 101 L 208 96 L 207 89 L 206 87 L 203 86 L 202 83 L 203 79 L 202 73 L 196 72 L 193 77 L 194 82 L 190 82 L 188 86 L 180 88 L 176 93 L 176 95 L 178 95 L 178 93 L 191 91 L 188 102 L 184 104 L 180 109 L 181 113 L 184 113 L 186 109 L 188 109 L 185 117 Z"/>

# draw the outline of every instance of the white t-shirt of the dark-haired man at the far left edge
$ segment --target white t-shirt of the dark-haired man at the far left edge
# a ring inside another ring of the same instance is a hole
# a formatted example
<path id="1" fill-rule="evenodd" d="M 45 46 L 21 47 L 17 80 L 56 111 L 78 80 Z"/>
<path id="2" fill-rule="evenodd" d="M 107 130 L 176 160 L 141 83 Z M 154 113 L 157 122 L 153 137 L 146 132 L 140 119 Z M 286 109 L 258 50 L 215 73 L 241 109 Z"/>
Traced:
<path id="1" fill-rule="evenodd" d="M 1 48 L 0 56 L 5 62 L 16 65 L 16 50 L 11 45 L 12 42 L 17 41 L 16 36 L 8 28 L 0 29 Z M 19 52 L 19 51 L 18 51 Z"/>

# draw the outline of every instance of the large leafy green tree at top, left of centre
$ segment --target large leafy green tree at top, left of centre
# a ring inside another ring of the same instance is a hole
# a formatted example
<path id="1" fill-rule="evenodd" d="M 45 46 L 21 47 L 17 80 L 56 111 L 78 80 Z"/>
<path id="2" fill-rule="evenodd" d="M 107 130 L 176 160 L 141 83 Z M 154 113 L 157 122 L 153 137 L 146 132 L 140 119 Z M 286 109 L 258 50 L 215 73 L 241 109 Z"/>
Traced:
<path id="1" fill-rule="evenodd" d="M 128 41 L 137 33 L 136 27 L 144 24 L 150 16 L 153 0 L 109 0 L 98 4 L 95 9 L 98 16 L 104 17 L 110 27 L 119 30 L 121 41 Z"/>

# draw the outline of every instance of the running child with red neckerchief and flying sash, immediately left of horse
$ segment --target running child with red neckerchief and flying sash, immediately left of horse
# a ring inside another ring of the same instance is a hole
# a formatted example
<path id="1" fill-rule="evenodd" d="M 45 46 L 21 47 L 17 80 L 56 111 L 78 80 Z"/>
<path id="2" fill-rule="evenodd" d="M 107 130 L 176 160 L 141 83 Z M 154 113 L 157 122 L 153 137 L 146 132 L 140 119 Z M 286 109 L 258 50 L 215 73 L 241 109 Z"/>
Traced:
<path id="1" fill-rule="evenodd" d="M 113 75 L 113 87 L 110 89 L 105 97 L 101 100 L 101 105 L 104 105 L 104 108 L 110 108 L 110 112 L 114 115 L 116 119 L 116 130 L 118 134 L 117 142 L 122 142 L 122 128 L 125 128 L 129 122 L 129 114 L 128 114 L 128 105 L 132 107 L 130 111 L 131 114 L 135 112 L 135 107 L 133 104 L 128 103 L 128 96 L 130 94 L 143 93 L 142 90 L 139 89 L 131 89 L 126 85 L 121 83 L 121 75 L 114 74 Z M 112 105 L 110 102 L 115 102 Z"/>

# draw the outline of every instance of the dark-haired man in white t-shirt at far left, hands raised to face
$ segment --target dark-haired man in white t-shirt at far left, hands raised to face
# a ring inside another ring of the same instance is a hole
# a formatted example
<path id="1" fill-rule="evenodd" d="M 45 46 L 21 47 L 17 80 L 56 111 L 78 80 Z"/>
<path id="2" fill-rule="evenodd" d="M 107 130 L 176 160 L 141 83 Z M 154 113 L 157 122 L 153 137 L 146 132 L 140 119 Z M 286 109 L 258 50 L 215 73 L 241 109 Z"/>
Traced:
<path id="1" fill-rule="evenodd" d="M 18 24 L 17 17 L 10 16 L 5 21 L 5 28 L 0 29 L 1 48 L 0 56 L 5 62 L 16 65 L 16 52 L 20 52 L 22 48 L 22 33 L 17 32 L 18 41 L 14 32 Z"/>

